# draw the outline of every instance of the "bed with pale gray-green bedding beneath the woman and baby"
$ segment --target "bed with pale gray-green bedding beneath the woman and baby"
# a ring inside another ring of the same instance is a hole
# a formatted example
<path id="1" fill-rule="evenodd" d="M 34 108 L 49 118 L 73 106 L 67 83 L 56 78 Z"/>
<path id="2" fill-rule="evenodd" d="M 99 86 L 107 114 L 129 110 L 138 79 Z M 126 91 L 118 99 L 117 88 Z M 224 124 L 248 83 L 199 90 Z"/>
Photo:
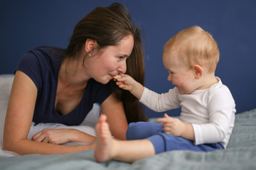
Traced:
<path id="1" fill-rule="evenodd" d="M 1 130 L 11 89 L 12 75 L 0 76 Z M 151 118 L 150 121 L 155 121 Z M 2 132 L 0 133 L 2 140 Z M 93 150 L 72 154 L 30 154 L 17 156 L 1 150 L 0 169 L 256 169 L 256 108 L 235 115 L 235 127 L 227 149 L 214 152 L 171 151 L 132 164 L 97 163 Z"/>

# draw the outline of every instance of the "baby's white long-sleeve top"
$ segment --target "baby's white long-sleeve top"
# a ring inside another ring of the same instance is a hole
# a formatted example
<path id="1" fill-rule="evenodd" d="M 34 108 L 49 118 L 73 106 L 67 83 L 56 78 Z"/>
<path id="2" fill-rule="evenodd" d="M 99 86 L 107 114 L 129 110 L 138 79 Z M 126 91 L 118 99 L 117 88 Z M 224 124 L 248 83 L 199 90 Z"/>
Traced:
<path id="1" fill-rule="evenodd" d="M 220 142 L 226 148 L 235 122 L 235 101 L 228 87 L 216 79 L 218 84 L 191 94 L 179 94 L 176 87 L 165 94 L 144 88 L 140 102 L 156 112 L 181 107 L 179 118 L 193 126 L 195 145 Z"/>

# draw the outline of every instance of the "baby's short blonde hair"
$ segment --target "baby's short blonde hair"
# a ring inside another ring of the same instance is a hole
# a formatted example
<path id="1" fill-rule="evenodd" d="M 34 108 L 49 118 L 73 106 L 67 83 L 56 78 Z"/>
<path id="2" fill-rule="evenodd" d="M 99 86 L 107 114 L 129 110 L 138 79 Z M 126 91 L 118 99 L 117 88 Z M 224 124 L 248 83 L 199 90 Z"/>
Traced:
<path id="1" fill-rule="evenodd" d="M 166 42 L 164 52 L 176 52 L 183 66 L 190 69 L 194 64 L 199 64 L 208 73 L 215 72 L 220 58 L 218 45 L 212 35 L 199 26 L 178 32 Z"/>

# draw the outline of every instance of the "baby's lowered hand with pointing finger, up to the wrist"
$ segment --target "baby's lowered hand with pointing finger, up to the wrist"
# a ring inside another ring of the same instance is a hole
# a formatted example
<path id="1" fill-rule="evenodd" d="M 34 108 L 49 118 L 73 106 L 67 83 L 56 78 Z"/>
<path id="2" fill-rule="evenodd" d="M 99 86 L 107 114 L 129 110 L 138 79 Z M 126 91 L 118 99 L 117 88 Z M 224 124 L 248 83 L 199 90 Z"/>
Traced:
<path id="1" fill-rule="evenodd" d="M 164 132 L 174 136 L 180 137 L 186 129 L 185 123 L 181 122 L 178 118 L 169 117 L 166 113 L 164 114 L 164 118 L 159 118 L 157 121 L 163 123 L 162 127 Z"/>

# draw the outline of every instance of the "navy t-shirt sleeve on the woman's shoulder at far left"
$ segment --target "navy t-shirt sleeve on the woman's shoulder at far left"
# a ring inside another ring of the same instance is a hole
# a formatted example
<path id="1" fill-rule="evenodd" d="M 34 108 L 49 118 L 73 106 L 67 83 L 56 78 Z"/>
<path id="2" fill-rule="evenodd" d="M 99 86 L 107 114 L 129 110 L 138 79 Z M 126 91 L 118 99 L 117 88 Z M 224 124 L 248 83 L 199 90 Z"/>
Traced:
<path id="1" fill-rule="evenodd" d="M 26 52 L 21 60 L 18 62 L 16 71 L 19 70 L 25 73 L 28 77 L 31 78 L 33 83 L 36 85 L 36 88 L 41 89 L 41 62 L 38 60 L 38 57 L 33 51 Z"/>

